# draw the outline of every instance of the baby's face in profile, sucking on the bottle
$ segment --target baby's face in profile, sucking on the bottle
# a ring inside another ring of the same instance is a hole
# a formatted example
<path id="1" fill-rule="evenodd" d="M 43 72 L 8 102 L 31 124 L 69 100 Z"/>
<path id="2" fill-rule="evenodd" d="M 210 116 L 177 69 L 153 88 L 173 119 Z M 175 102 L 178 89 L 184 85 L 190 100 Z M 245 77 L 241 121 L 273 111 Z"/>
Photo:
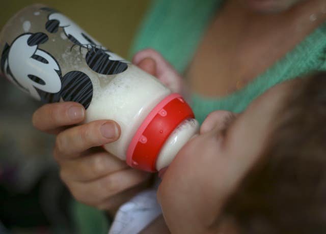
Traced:
<path id="1" fill-rule="evenodd" d="M 261 157 L 291 82 L 272 87 L 231 123 L 229 111 L 210 113 L 200 134 L 180 150 L 157 192 L 172 233 L 219 230 L 221 208 Z"/>

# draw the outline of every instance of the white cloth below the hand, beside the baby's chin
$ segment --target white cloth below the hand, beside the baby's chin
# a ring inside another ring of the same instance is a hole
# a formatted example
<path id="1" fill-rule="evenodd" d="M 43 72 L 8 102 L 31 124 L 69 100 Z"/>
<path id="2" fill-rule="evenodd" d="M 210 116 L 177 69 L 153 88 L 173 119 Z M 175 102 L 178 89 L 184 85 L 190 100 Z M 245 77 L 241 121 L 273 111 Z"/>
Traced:
<path id="1" fill-rule="evenodd" d="M 145 190 L 118 210 L 108 234 L 136 234 L 161 214 L 156 190 Z"/>

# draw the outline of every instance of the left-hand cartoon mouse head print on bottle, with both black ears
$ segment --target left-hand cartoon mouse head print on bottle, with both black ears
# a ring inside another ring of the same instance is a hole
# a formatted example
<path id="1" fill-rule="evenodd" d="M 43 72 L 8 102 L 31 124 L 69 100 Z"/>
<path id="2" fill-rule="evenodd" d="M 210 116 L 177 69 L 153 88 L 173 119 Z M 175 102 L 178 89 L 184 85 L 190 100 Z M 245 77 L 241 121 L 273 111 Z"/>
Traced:
<path id="1" fill-rule="evenodd" d="M 59 64 L 48 52 L 38 48 L 48 36 L 22 34 L 1 56 L 1 70 L 21 90 L 43 102 L 75 101 L 87 109 L 93 97 L 91 79 L 83 72 L 71 71 L 62 77 Z"/>

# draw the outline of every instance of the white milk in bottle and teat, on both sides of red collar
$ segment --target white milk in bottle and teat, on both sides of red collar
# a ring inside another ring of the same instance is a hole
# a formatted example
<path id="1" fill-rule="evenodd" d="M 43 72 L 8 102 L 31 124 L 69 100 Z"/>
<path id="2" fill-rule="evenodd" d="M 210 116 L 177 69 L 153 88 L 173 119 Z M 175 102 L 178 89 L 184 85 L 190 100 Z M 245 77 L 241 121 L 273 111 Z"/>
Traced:
<path id="1" fill-rule="evenodd" d="M 120 125 L 120 138 L 104 145 L 104 148 L 121 160 L 126 160 L 130 141 L 149 112 L 171 94 L 155 77 L 130 64 L 125 72 L 117 74 L 104 88 L 93 82 L 93 90 L 86 122 L 107 119 Z M 161 148 L 156 169 L 168 166 L 198 130 L 199 124 L 195 119 L 184 120 L 179 124 Z"/>

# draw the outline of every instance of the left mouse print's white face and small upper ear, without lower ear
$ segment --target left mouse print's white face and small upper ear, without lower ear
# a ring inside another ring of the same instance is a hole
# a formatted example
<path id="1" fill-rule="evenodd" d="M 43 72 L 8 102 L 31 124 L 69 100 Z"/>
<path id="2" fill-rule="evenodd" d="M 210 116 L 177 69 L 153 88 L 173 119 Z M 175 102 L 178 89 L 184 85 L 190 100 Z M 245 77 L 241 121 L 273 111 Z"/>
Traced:
<path id="1" fill-rule="evenodd" d="M 38 48 L 47 40 L 47 35 L 43 33 L 20 35 L 11 46 L 6 45 L 2 56 L 3 73 L 37 100 L 41 100 L 37 90 L 51 94 L 61 90 L 57 61 Z"/>

